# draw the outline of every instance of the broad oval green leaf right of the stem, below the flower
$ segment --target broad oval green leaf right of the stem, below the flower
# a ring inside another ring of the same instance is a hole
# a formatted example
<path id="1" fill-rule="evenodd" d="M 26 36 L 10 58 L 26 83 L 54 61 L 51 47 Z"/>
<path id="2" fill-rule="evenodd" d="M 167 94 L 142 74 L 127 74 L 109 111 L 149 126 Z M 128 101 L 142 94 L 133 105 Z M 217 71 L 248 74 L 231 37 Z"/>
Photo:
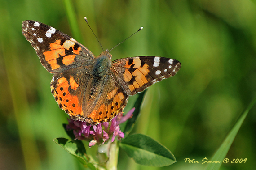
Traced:
<path id="1" fill-rule="evenodd" d="M 173 154 L 165 146 L 146 135 L 127 136 L 119 146 L 141 165 L 168 166 L 176 162 Z"/>

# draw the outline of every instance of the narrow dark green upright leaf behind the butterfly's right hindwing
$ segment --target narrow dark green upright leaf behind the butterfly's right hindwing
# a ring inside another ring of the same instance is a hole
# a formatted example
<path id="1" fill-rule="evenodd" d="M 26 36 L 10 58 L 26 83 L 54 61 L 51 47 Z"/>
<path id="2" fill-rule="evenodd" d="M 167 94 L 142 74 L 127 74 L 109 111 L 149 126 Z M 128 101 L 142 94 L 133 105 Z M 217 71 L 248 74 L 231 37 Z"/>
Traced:
<path id="1" fill-rule="evenodd" d="M 146 93 L 146 90 L 138 94 L 139 96 L 133 106 L 133 107 L 135 107 L 135 111 L 132 114 L 132 118 L 128 119 L 126 126 L 124 128 L 124 131 L 123 131 L 125 136 L 127 136 L 132 131 L 132 128 L 133 128 L 134 124 L 136 123 L 137 118 L 139 117 L 139 114 L 141 111 L 141 103 L 143 101 L 145 93 Z"/>

